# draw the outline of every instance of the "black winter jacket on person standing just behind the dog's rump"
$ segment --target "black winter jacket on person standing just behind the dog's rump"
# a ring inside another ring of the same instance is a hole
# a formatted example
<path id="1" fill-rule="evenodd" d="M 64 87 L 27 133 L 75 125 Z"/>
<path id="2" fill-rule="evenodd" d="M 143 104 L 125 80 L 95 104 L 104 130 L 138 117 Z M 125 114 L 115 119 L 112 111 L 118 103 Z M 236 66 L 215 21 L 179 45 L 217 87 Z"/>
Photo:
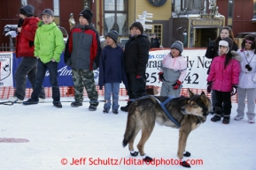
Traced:
<path id="1" fill-rule="evenodd" d="M 124 51 L 126 73 L 136 73 L 136 75 L 144 77 L 150 48 L 151 42 L 146 35 L 140 34 L 130 37 L 125 44 Z"/>

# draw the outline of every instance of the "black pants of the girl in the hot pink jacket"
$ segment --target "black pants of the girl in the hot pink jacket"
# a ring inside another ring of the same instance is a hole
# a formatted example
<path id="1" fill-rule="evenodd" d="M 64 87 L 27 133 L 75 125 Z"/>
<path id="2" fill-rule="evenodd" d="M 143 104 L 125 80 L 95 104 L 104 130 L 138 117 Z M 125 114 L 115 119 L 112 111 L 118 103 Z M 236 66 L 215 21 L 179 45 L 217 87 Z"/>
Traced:
<path id="1" fill-rule="evenodd" d="M 231 114 L 231 95 L 230 92 L 220 92 L 220 91 L 215 91 L 216 92 L 216 104 L 215 104 L 215 112 L 216 115 L 221 116 L 221 112 L 223 110 L 223 117 L 230 117 Z M 222 107 L 222 102 L 224 103 Z"/>

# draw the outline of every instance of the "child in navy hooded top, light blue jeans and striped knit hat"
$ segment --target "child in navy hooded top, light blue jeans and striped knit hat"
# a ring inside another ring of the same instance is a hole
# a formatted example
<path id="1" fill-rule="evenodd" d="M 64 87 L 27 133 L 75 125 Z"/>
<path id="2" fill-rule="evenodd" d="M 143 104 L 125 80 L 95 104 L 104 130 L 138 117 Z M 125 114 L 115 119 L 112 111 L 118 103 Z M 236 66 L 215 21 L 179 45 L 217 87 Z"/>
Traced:
<path id="1" fill-rule="evenodd" d="M 112 107 L 112 113 L 118 114 L 120 83 L 128 86 L 124 71 L 123 50 L 116 44 L 118 33 L 111 30 L 105 35 L 106 46 L 99 57 L 99 89 L 105 86 L 105 104 L 103 113 L 107 114 Z M 112 100 L 111 100 L 112 94 Z M 111 102 L 112 101 L 112 102 Z"/>

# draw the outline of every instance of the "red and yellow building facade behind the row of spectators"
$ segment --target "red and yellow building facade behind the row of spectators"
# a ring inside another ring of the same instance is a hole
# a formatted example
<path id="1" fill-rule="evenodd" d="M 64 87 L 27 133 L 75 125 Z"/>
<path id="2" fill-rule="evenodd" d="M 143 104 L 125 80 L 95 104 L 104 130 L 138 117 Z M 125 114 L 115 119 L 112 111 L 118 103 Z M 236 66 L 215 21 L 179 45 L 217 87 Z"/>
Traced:
<path id="1" fill-rule="evenodd" d="M 146 18 L 151 20 L 145 22 L 151 29 L 146 29 L 144 33 L 149 36 L 151 33 L 157 33 L 164 48 L 171 47 L 175 40 L 187 43 L 185 47 L 188 48 L 206 47 L 208 38 L 216 38 L 221 26 L 230 26 L 235 35 L 240 32 L 256 31 L 254 0 L 1 0 L 0 32 L 3 34 L 0 47 L 3 43 L 9 42 L 9 38 L 4 35 L 4 26 L 18 23 L 19 8 L 24 4 L 34 5 L 35 15 L 39 18 L 43 9 L 53 9 L 55 22 L 65 27 L 67 31 L 70 29 L 70 14 L 74 14 L 74 20 L 78 23 L 79 12 L 89 8 L 94 13 L 92 22 L 100 35 L 114 29 L 119 32 L 119 39 L 128 39 L 129 26 L 146 11 L 153 15 L 152 18 Z M 207 14 L 213 11 L 214 4 L 218 13 L 207 17 Z M 205 19 L 208 24 L 194 26 L 193 23 L 199 23 L 196 21 L 200 18 Z M 193 21 L 194 19 L 197 20 Z M 216 23 L 211 19 L 219 20 Z"/>

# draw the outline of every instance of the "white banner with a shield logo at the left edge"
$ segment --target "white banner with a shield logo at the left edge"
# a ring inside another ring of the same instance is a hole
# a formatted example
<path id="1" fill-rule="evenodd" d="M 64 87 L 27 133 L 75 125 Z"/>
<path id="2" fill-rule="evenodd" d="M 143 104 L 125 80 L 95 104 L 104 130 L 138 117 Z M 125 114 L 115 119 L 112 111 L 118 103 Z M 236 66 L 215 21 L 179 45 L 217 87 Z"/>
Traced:
<path id="1" fill-rule="evenodd" d="M 0 87 L 1 86 L 13 86 L 12 52 L 0 53 Z"/>

